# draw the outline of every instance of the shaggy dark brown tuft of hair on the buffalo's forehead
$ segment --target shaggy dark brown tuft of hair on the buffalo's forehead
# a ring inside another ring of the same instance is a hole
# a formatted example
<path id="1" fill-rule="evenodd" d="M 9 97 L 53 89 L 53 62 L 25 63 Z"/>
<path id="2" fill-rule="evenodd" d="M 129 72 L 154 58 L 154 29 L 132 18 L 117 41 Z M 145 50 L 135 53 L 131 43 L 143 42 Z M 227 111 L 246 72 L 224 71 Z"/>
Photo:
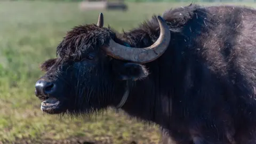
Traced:
<path id="1" fill-rule="evenodd" d="M 94 24 L 76 26 L 68 31 L 58 45 L 57 55 L 60 58 L 80 58 L 81 54 L 87 49 L 99 49 L 101 45 L 114 36 L 114 33 L 108 28 L 100 28 Z"/>

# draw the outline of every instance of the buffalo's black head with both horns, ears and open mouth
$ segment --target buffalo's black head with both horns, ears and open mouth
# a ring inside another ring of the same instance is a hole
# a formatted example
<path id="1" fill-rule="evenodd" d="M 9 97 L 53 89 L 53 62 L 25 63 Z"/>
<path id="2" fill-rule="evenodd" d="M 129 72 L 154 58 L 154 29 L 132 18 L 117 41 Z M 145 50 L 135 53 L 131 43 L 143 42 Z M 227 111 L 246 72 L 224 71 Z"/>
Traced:
<path id="1" fill-rule="evenodd" d="M 142 64 L 160 57 L 169 45 L 169 27 L 161 17 L 157 20 L 160 36 L 145 48 L 122 45 L 112 30 L 103 27 L 102 13 L 97 25 L 68 31 L 57 47 L 57 58 L 41 65 L 46 74 L 35 84 L 41 110 L 88 114 L 108 106 L 121 107 L 129 95 L 127 82 L 147 77 Z"/>

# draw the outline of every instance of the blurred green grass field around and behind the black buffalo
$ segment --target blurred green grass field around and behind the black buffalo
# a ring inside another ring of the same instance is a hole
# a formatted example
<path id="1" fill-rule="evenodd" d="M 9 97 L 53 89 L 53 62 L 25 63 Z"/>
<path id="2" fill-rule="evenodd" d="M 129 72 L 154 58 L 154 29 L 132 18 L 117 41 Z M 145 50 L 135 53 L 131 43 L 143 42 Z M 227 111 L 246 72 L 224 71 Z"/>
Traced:
<path id="1" fill-rule="evenodd" d="M 136 27 L 151 14 L 186 4 L 128 4 L 127 12 L 102 12 L 105 26 L 121 31 Z M 55 47 L 67 30 L 96 23 L 98 14 L 79 11 L 78 3 L 0 2 L 0 143 L 158 143 L 157 126 L 143 125 L 111 109 L 97 119 L 59 118 L 40 110 L 34 96 L 35 82 L 43 74 L 39 63 L 55 57 Z"/>

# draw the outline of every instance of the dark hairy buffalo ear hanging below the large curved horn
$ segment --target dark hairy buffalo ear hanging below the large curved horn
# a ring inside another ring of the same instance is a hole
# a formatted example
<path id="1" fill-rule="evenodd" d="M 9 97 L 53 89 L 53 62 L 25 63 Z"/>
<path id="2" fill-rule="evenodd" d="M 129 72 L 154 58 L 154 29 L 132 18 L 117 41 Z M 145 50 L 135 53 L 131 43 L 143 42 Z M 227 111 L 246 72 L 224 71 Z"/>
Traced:
<path id="1" fill-rule="evenodd" d="M 128 80 L 131 79 L 136 81 L 148 76 L 148 70 L 137 63 L 124 63 L 118 68 L 117 71 L 118 79 Z"/>

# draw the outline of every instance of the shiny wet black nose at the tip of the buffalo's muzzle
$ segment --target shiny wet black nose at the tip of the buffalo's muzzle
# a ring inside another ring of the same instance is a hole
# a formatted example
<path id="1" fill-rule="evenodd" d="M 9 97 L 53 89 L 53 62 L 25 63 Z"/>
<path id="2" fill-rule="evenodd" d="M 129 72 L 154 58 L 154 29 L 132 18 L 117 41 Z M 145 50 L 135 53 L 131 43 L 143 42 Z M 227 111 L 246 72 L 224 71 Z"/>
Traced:
<path id="1" fill-rule="evenodd" d="M 55 84 L 52 82 L 47 82 L 43 80 L 39 80 L 36 82 L 36 95 L 49 95 L 52 94 L 55 90 Z"/>

